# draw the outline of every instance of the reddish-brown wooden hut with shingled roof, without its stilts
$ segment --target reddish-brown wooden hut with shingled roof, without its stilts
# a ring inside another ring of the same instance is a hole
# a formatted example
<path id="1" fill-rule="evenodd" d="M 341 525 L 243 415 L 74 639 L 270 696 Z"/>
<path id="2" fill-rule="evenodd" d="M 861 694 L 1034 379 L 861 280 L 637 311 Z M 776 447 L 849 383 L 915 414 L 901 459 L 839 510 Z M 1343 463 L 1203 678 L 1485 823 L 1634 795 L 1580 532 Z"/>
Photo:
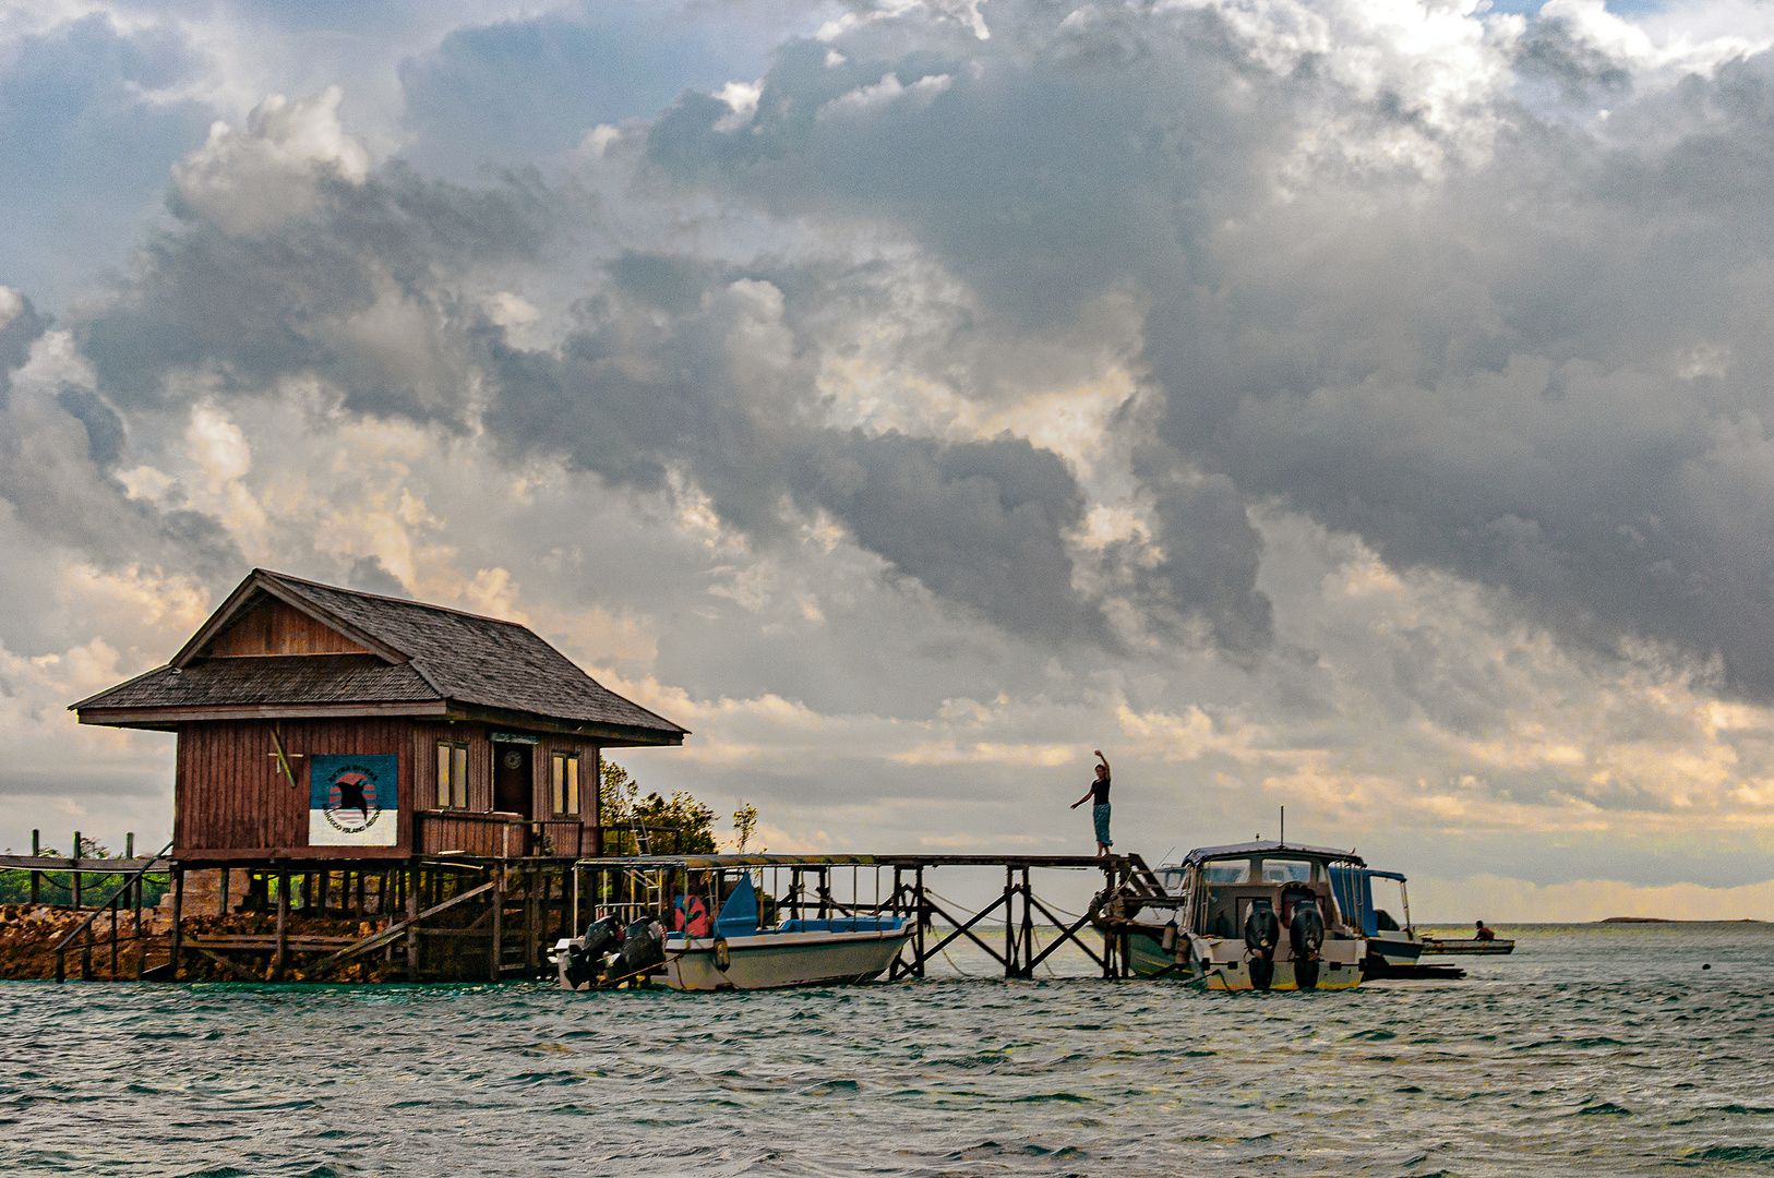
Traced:
<path id="1" fill-rule="evenodd" d="M 601 750 L 688 734 L 527 626 L 266 569 L 71 710 L 177 734 L 193 866 L 598 855 Z"/>

